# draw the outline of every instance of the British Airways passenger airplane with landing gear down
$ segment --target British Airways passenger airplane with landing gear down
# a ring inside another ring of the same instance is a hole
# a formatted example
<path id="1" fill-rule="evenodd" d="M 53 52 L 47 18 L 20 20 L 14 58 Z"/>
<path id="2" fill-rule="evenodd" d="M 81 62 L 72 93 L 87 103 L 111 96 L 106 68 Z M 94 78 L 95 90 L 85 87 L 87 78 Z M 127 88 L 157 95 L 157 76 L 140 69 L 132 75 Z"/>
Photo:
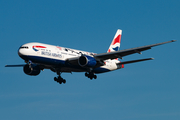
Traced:
<path id="1" fill-rule="evenodd" d="M 39 75 L 44 69 L 50 69 L 57 73 L 58 76 L 54 77 L 54 81 L 59 84 L 66 83 L 66 80 L 61 77 L 63 72 L 85 72 L 85 76 L 92 80 L 97 78 L 95 74 L 121 69 L 124 68 L 125 64 L 154 59 L 146 58 L 121 62 L 119 59 L 123 59 L 124 56 L 135 53 L 141 54 L 142 51 L 149 50 L 152 47 L 176 41 L 171 40 L 119 50 L 121 35 L 122 30 L 118 29 L 107 52 L 100 54 L 38 42 L 27 43 L 20 46 L 18 50 L 18 55 L 26 64 L 6 65 L 5 67 L 23 67 L 24 73 L 30 76 Z"/>

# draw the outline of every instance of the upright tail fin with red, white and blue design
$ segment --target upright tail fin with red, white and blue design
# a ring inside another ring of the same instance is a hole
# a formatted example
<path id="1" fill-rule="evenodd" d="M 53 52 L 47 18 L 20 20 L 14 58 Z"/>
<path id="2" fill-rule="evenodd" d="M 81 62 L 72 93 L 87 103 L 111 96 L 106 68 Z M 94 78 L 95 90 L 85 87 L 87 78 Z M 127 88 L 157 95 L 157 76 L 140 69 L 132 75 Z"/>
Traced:
<path id="1" fill-rule="evenodd" d="M 121 43 L 122 30 L 118 29 L 107 52 L 118 51 Z"/>

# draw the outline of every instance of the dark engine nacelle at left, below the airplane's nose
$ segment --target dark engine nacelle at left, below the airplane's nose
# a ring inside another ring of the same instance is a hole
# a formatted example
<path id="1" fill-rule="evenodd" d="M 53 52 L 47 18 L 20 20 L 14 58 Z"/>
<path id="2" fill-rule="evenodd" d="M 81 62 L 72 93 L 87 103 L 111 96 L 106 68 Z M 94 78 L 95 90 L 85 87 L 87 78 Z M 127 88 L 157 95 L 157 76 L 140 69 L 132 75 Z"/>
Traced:
<path id="1" fill-rule="evenodd" d="M 32 76 L 36 76 L 39 75 L 39 73 L 41 72 L 39 66 L 37 65 L 31 65 L 31 67 L 27 64 L 24 66 L 24 73 L 26 73 L 27 75 L 32 75 Z"/>

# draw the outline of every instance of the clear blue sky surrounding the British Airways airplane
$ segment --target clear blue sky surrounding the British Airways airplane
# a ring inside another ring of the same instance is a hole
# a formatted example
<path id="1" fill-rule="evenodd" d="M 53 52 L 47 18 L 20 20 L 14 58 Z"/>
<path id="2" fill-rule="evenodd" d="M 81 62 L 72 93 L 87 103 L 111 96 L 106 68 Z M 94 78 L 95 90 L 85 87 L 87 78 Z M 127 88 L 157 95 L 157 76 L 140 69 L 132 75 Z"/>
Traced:
<path id="1" fill-rule="evenodd" d="M 180 39 L 178 0 L 1 0 L 0 119 L 3 120 L 179 120 L 179 41 L 155 47 L 123 61 L 125 65 L 89 80 L 84 73 L 50 70 L 32 77 L 22 68 L 18 48 L 42 42 L 90 52 L 106 52 L 117 29 L 121 50 Z"/>

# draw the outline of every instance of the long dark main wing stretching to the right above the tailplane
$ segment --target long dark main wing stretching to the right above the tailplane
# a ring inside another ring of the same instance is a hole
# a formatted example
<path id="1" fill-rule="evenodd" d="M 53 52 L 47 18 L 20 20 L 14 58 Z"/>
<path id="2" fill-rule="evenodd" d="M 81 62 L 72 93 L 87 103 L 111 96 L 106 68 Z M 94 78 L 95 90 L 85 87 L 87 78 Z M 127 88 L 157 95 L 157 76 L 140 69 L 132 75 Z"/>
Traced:
<path id="1" fill-rule="evenodd" d="M 96 54 L 94 57 L 99 60 L 107 60 L 107 59 L 115 59 L 115 58 L 121 58 L 127 55 L 131 55 L 134 53 L 139 53 L 141 54 L 141 51 L 149 50 L 152 47 L 158 46 L 158 45 L 163 45 L 166 43 L 171 43 L 175 42 L 176 40 L 171 40 L 167 42 L 162 42 L 162 43 L 157 43 L 157 44 L 152 44 L 152 45 L 147 45 L 147 46 L 142 46 L 142 47 L 136 47 L 136 48 L 131 48 L 131 49 L 125 49 L 125 50 L 119 50 L 116 52 L 109 52 L 109 53 L 101 53 L 101 54 Z"/>

